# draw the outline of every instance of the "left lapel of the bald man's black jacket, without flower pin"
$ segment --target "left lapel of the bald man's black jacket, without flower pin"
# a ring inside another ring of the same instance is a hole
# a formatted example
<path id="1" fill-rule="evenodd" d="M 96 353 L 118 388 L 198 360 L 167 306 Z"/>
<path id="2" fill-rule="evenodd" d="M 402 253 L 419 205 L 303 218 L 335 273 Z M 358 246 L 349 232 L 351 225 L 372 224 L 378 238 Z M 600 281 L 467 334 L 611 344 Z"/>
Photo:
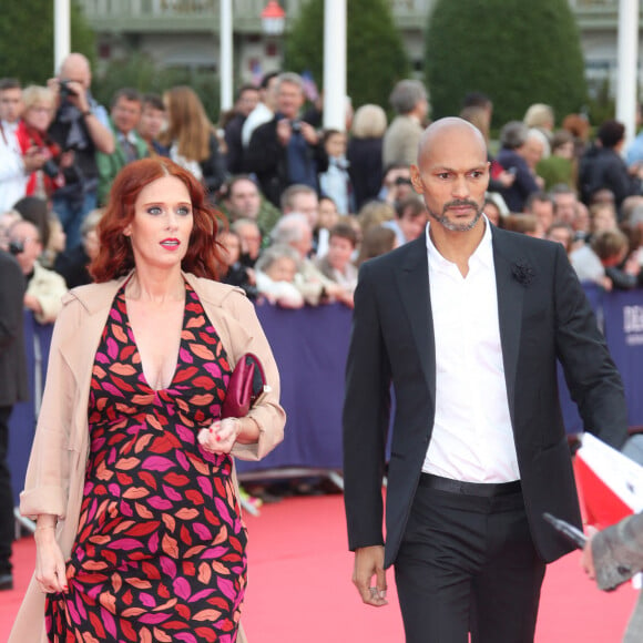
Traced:
<path id="1" fill-rule="evenodd" d="M 396 275 L 404 309 L 410 320 L 418 359 L 431 399 L 436 398 L 436 343 L 429 297 L 429 266 L 425 235 L 408 244 L 401 269 Z"/>

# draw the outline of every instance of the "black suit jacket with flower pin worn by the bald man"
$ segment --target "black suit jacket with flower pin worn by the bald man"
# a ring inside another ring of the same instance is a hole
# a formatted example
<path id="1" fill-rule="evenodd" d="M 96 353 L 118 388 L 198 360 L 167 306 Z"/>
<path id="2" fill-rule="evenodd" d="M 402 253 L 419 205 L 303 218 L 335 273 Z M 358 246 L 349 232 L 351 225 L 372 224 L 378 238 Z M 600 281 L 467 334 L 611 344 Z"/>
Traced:
<path id="1" fill-rule="evenodd" d="M 557 358 L 585 430 L 620 448 L 623 386 L 560 244 L 492 229 L 507 397 L 527 514 L 545 561 L 570 550 L 542 512 L 580 525 L 559 405 Z M 436 354 L 426 237 L 367 262 L 355 294 L 344 406 L 350 549 L 381 544 L 390 382 L 396 398 L 386 502 L 386 565 L 397 555 L 431 439 Z M 484 382 L 480 382 L 484 386 Z M 466 395 L 466 394 L 463 394 Z"/>

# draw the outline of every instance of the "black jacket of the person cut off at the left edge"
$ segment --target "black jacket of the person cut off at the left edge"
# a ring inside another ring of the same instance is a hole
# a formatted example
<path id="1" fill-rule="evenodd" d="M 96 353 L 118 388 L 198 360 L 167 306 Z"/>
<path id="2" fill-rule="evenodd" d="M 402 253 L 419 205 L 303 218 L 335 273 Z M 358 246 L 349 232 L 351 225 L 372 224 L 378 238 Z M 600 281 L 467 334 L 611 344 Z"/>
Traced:
<path id="1" fill-rule="evenodd" d="M 23 309 L 27 284 L 18 262 L 0 251 L 0 406 L 29 399 Z"/>

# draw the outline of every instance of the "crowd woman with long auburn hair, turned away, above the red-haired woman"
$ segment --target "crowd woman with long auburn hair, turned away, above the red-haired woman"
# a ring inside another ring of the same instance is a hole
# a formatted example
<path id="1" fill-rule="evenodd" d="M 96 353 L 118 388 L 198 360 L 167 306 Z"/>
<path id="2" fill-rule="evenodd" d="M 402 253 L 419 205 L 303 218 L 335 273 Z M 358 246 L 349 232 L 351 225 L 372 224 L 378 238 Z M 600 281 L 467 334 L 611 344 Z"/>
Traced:
<path id="1" fill-rule="evenodd" d="M 167 110 L 167 129 L 161 143 L 170 149 L 170 157 L 190 170 L 201 181 L 211 198 L 226 180 L 225 163 L 214 125 L 194 90 L 180 85 L 163 96 Z"/>

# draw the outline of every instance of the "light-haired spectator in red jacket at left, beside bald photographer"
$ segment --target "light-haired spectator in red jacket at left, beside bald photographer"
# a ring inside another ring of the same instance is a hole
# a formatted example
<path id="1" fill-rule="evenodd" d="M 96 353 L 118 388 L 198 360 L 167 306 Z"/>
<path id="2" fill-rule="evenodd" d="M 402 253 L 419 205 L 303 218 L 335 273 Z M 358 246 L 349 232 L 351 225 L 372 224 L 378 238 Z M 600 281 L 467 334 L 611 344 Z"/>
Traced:
<path id="1" fill-rule="evenodd" d="M 23 155 L 38 153 L 42 163 L 28 174 L 24 194 L 48 200 L 64 185 L 63 169 L 73 157 L 62 150 L 48 133 L 54 114 L 54 94 L 43 86 L 30 85 L 22 93 L 24 110 L 16 135 Z M 25 171 L 27 173 L 27 171 Z"/>

